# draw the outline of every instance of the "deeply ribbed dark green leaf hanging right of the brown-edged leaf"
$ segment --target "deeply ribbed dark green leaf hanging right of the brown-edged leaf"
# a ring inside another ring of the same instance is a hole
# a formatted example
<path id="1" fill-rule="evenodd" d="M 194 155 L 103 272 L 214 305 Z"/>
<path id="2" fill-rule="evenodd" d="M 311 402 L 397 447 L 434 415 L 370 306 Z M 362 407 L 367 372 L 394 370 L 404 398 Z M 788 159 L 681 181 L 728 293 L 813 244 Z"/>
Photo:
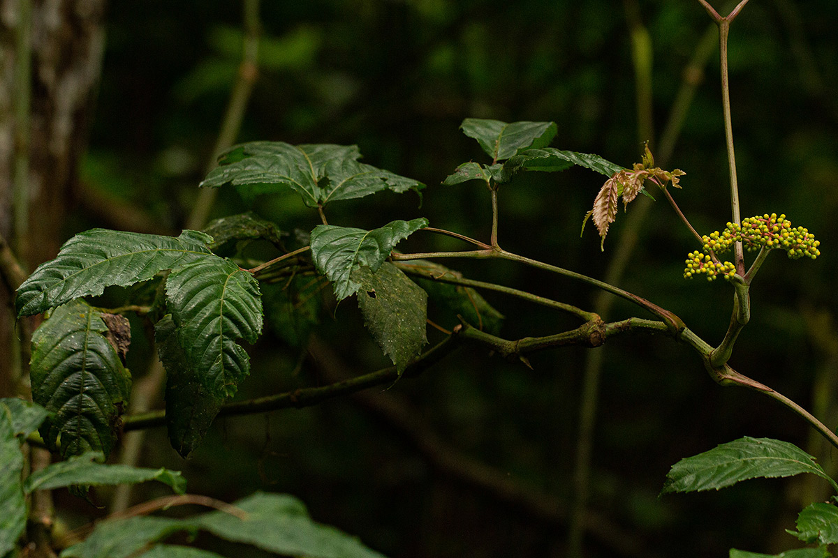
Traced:
<path id="1" fill-rule="evenodd" d="M 169 274 L 166 300 L 178 343 L 201 384 L 215 397 L 234 395 L 250 371 L 250 358 L 235 341 L 255 343 L 261 332 L 256 279 L 230 260 L 204 258 Z"/>

